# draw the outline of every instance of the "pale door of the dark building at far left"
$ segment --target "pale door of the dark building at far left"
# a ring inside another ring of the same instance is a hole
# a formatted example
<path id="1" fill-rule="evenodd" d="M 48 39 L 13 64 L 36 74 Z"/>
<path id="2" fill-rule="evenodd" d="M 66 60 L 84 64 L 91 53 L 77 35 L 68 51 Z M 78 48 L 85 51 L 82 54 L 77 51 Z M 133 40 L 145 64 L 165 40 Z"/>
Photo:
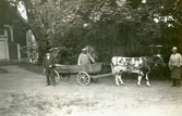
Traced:
<path id="1" fill-rule="evenodd" d="M 5 41 L 0 41 L 0 60 L 7 60 Z"/>

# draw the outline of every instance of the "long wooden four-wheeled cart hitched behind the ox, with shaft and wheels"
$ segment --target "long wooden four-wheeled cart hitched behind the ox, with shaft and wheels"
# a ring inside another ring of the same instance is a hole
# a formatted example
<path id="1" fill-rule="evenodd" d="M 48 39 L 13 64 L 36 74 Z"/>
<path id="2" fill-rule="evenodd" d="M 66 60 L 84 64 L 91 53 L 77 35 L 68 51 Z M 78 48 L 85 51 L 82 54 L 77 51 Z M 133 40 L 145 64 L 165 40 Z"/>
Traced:
<path id="1" fill-rule="evenodd" d="M 88 65 L 60 65 L 56 64 L 53 67 L 53 75 L 56 83 L 66 81 L 70 79 L 70 75 L 76 74 L 76 80 L 81 86 L 87 86 L 90 80 L 97 81 L 99 77 L 106 77 L 112 75 L 102 74 L 98 75 L 101 70 L 101 63 L 88 64 Z"/>

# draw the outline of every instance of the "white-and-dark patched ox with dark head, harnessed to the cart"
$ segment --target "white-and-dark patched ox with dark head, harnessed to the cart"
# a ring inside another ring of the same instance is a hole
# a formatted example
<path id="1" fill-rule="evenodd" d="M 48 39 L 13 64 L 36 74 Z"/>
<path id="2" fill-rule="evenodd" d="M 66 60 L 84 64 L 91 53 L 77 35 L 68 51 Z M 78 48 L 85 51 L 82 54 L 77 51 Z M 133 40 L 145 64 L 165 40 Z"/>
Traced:
<path id="1" fill-rule="evenodd" d="M 124 85 L 121 76 L 122 73 L 137 74 L 137 86 L 141 86 L 142 77 L 145 77 L 146 85 L 150 87 L 148 74 L 154 66 L 165 66 L 163 60 L 160 55 L 141 56 L 141 57 L 124 57 L 113 56 L 111 59 L 111 69 L 116 77 L 117 86 Z"/>

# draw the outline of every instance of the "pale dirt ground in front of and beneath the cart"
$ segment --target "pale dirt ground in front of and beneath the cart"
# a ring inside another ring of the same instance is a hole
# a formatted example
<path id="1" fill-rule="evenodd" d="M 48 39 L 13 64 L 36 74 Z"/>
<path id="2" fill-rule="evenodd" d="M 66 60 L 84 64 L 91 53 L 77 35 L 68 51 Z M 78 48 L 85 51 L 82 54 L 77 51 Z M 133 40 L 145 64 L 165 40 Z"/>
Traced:
<path id="1" fill-rule="evenodd" d="M 181 116 L 182 88 L 171 81 L 151 80 L 151 87 L 124 79 L 117 87 L 104 77 L 86 87 L 75 76 L 68 82 L 46 87 L 46 77 L 13 66 L 1 66 L 0 116 Z"/>

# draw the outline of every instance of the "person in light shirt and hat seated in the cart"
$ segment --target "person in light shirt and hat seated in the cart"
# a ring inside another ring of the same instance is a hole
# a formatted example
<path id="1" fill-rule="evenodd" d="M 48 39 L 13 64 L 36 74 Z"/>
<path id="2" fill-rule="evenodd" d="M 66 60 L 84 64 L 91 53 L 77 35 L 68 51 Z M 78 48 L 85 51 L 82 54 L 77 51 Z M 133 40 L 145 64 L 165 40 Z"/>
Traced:
<path id="1" fill-rule="evenodd" d="M 77 64 L 78 65 L 85 65 L 85 64 L 92 64 L 95 63 L 95 60 L 93 56 L 88 53 L 87 49 L 82 49 L 82 53 L 78 56 Z"/>

